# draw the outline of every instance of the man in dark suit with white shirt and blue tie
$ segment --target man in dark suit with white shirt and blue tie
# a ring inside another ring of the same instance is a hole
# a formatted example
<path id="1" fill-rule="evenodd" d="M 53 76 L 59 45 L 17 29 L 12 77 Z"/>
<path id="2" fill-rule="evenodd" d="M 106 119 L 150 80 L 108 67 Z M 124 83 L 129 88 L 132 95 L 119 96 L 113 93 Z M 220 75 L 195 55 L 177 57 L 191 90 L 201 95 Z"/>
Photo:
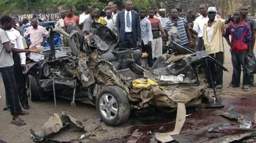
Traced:
<path id="1" fill-rule="evenodd" d="M 133 4 L 127 0 L 125 10 L 118 12 L 116 27 L 118 29 L 120 48 L 136 48 L 140 40 L 140 19 L 136 11 L 132 10 Z"/>

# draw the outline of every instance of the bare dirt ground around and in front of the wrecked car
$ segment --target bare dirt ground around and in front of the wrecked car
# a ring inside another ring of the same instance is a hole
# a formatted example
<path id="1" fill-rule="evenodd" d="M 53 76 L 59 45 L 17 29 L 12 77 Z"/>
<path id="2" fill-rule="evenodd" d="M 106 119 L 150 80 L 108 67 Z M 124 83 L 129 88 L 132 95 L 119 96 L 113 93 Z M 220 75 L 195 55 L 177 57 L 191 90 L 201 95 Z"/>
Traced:
<path id="1" fill-rule="evenodd" d="M 256 47 L 254 47 L 254 49 L 256 49 Z M 254 50 L 254 53 L 255 52 L 256 50 Z M 221 103 L 225 105 L 224 109 L 233 104 L 235 106 L 233 111 L 252 119 L 256 111 L 256 87 L 252 88 L 249 92 L 244 92 L 241 90 L 241 88 L 226 88 L 227 83 L 231 81 L 233 72 L 231 54 L 229 52 L 227 43 L 225 43 L 225 67 L 228 68 L 229 73 L 224 73 L 223 92 L 218 94 Z M 41 126 L 48 120 L 50 115 L 53 113 L 59 113 L 59 115 L 61 115 L 62 111 L 65 111 L 74 118 L 81 120 L 87 132 L 90 132 L 98 127 L 92 136 L 89 136 L 83 140 L 83 142 L 88 143 L 122 142 L 120 139 L 113 138 L 120 138 L 125 135 L 130 135 L 137 128 L 139 129 L 139 132 L 144 133 L 139 142 L 149 142 L 150 135 L 147 135 L 148 131 L 153 132 L 155 130 L 159 130 L 159 128 L 163 126 L 160 132 L 169 132 L 174 129 L 175 125 L 175 122 L 171 122 L 175 120 L 175 112 L 170 114 L 157 112 L 154 115 L 147 115 L 144 117 L 137 117 L 136 115 L 132 114 L 129 120 L 120 126 L 106 126 L 99 120 L 99 116 L 97 115 L 94 106 L 76 102 L 76 106 L 73 107 L 70 105 L 70 101 L 57 98 L 56 108 L 54 107 L 54 102 L 52 99 L 49 101 L 39 102 L 31 102 L 29 100 L 30 109 L 27 111 L 29 111 L 30 115 L 21 117 L 23 120 L 25 120 L 27 125 L 17 127 L 10 124 L 12 119 L 10 111 L 2 110 L 2 108 L 5 106 L 5 92 L 2 79 L 0 79 L 0 96 L 2 97 L 0 98 L 0 140 L 8 143 L 32 143 L 33 141 L 29 137 L 29 130 L 39 130 Z M 186 114 L 192 114 L 186 117 L 181 134 L 188 133 L 192 130 L 196 130 L 219 121 L 235 124 L 234 121 L 212 115 L 210 110 L 212 109 L 200 109 L 199 111 L 195 111 L 194 108 L 188 108 Z M 137 124 L 140 125 L 137 126 Z M 71 130 L 65 130 L 57 135 L 54 135 L 51 139 L 68 141 L 70 139 L 76 139 L 81 134 L 84 134 L 84 132 L 72 132 Z"/>

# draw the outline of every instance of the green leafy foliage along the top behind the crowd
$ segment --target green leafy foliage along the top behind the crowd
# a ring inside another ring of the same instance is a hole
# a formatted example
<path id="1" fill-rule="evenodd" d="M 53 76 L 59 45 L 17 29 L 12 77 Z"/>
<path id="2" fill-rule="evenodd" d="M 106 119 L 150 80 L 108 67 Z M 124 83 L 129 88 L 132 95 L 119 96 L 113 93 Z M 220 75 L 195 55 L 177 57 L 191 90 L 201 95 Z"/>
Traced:
<path id="1" fill-rule="evenodd" d="M 109 1 L 124 4 L 125 0 L 0 0 L 0 14 L 9 14 L 14 9 L 28 11 L 31 9 L 54 8 L 57 6 L 64 6 L 64 8 L 71 7 L 74 9 L 74 13 L 78 14 L 84 11 L 85 5 L 103 9 Z M 155 0 L 133 0 L 133 2 L 137 9 L 147 9 L 156 3 Z"/>

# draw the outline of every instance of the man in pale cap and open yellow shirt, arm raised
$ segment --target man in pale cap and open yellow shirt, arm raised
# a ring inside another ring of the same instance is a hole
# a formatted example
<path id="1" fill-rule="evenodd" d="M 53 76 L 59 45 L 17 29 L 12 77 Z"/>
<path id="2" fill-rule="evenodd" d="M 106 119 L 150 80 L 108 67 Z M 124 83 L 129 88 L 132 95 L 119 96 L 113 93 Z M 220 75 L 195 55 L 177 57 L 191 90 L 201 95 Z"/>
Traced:
<path id="1" fill-rule="evenodd" d="M 231 17 L 228 19 L 217 19 L 215 16 L 217 14 L 217 9 L 215 7 L 209 7 L 208 11 L 209 21 L 204 24 L 203 28 L 203 40 L 206 52 L 208 55 L 215 58 L 218 62 L 223 64 L 223 37 L 222 32 L 227 28 L 228 23 L 232 20 Z M 213 79 L 213 84 L 211 82 L 211 77 Z M 209 64 L 207 71 L 208 83 L 211 87 L 215 86 L 218 92 L 222 91 L 223 87 L 223 70 L 221 67 L 215 64 Z"/>

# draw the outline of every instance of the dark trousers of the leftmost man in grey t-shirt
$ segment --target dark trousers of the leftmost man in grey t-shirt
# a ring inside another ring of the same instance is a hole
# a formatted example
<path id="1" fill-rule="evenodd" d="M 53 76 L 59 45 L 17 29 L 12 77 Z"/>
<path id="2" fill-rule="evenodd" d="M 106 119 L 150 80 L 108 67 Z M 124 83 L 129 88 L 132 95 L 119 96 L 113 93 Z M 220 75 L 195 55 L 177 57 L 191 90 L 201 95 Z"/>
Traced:
<path id="1" fill-rule="evenodd" d="M 11 114 L 19 115 L 21 114 L 21 106 L 19 104 L 19 93 L 14 77 L 14 66 L 0 68 L 0 72 L 4 82 L 6 98 L 8 98 L 8 103 L 10 103 Z"/>

